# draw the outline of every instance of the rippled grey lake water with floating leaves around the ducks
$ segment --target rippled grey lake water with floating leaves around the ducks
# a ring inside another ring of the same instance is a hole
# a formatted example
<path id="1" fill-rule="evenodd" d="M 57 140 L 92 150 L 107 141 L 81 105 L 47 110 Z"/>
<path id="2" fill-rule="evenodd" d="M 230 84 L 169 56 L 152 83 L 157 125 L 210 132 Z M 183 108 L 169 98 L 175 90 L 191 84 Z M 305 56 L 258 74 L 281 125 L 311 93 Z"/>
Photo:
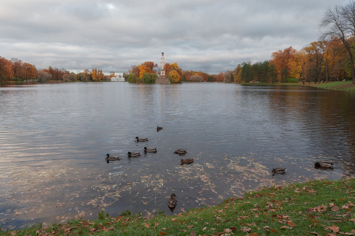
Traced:
<path id="1" fill-rule="evenodd" d="M 101 209 L 179 214 L 265 185 L 355 173 L 352 92 L 210 83 L 2 86 L 1 229 L 94 218 Z M 144 146 L 158 151 L 144 153 Z M 189 151 L 181 157 L 178 149 Z M 128 151 L 142 153 L 127 158 Z M 107 153 L 121 158 L 107 163 Z M 182 158 L 195 160 L 181 166 Z M 335 166 L 316 169 L 319 160 Z M 272 176 L 278 167 L 286 173 Z M 179 202 L 170 213 L 172 192 Z"/>

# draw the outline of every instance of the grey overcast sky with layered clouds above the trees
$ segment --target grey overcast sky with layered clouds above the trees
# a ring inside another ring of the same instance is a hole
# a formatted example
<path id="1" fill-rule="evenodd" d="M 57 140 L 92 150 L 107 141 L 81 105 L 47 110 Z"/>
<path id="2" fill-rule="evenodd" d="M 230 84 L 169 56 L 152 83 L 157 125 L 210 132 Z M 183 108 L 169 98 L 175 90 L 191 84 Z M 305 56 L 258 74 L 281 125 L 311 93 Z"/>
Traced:
<path id="1" fill-rule="evenodd" d="M 1 0 L 0 56 L 37 69 L 127 72 L 153 61 L 218 74 L 318 40 L 348 0 Z"/>

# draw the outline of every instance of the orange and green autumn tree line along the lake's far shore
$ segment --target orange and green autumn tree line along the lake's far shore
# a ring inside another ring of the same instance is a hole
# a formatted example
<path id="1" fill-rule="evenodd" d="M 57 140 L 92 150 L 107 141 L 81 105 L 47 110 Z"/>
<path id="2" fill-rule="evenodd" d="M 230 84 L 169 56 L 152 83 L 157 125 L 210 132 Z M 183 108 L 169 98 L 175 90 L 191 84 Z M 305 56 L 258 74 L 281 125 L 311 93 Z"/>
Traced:
<path id="1" fill-rule="evenodd" d="M 251 64 L 238 64 L 233 71 L 207 74 L 202 71 L 182 70 L 177 63 L 165 63 L 165 75 L 171 83 L 191 82 L 328 82 L 352 79 L 355 83 L 355 1 L 328 7 L 318 25 L 320 40 L 296 50 L 291 46 L 271 54 L 271 59 Z M 63 81 L 104 81 L 115 75 L 104 75 L 102 69 L 85 69 L 73 73 L 65 69 L 48 67 L 37 70 L 35 65 L 17 58 L 0 56 L 0 81 L 37 79 Z M 132 65 L 123 77 L 128 82 L 154 83 L 160 75 L 157 63 Z"/>

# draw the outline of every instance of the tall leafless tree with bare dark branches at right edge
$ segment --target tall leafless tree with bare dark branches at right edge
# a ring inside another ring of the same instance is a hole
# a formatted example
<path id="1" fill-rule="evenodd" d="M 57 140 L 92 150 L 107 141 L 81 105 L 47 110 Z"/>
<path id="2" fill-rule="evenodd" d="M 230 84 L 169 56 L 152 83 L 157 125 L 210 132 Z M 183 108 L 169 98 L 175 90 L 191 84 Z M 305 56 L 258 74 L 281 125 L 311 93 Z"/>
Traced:
<path id="1" fill-rule="evenodd" d="M 328 7 L 318 25 L 321 31 L 321 39 L 338 38 L 342 41 L 349 55 L 351 77 L 355 83 L 354 68 L 354 37 L 355 37 L 355 1 L 349 1 L 345 5 Z"/>

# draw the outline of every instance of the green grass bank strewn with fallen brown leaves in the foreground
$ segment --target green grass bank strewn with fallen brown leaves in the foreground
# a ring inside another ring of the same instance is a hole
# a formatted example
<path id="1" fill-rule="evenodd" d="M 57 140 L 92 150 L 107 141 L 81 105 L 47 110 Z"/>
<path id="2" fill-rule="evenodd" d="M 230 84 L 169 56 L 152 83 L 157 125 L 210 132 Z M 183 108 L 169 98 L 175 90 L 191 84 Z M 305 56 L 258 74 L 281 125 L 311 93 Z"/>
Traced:
<path id="1" fill-rule="evenodd" d="M 184 201 L 178 199 L 179 202 Z M 33 226 L 0 235 L 355 235 L 355 178 L 316 180 L 287 187 L 275 185 L 230 198 L 218 206 L 195 208 L 174 216 L 110 217 L 70 220 L 48 228 Z"/>

